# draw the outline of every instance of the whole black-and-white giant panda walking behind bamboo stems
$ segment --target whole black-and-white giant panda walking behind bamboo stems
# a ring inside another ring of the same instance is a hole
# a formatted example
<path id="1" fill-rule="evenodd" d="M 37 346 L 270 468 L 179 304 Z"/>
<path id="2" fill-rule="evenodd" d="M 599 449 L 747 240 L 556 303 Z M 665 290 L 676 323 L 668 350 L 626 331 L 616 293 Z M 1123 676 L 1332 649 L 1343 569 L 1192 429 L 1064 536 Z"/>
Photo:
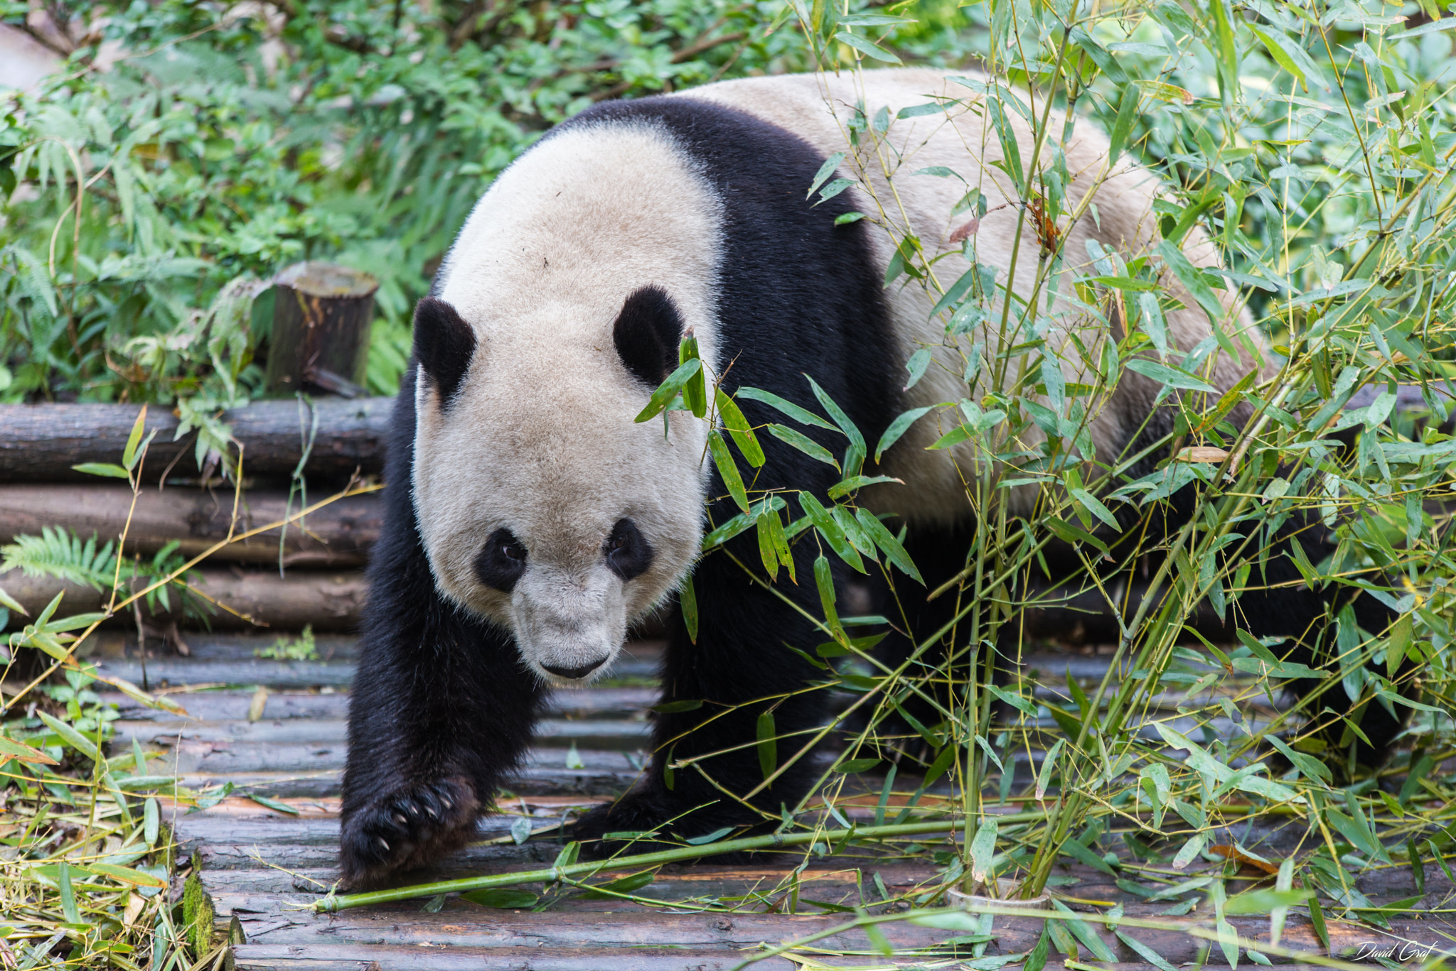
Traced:
<path id="1" fill-rule="evenodd" d="M 897 118 L 938 98 L 961 105 Z M 677 365 L 689 332 L 729 393 L 751 386 L 817 409 L 810 374 L 869 443 L 907 409 L 984 393 L 967 387 L 960 358 L 942 346 L 935 294 L 904 281 L 885 287 L 891 233 L 877 220 L 837 220 L 879 214 L 869 195 L 878 197 L 881 221 L 914 233 L 930 255 L 951 253 L 938 265 L 942 280 L 955 280 L 967 268 L 960 239 L 970 217 L 952 210 L 965 189 L 943 175 L 916 175 L 952 169 L 987 195 L 976 252 L 1003 281 L 1019 226 L 1013 288 L 1025 297 L 1041 259 L 1035 227 L 994 167 L 1002 148 L 980 98 L 927 70 L 722 82 L 597 105 L 495 179 L 415 312 L 349 702 L 347 884 L 376 884 L 467 841 L 518 767 L 550 689 L 607 671 L 628 626 L 670 603 L 689 575 L 699 632 L 693 642 L 673 614 L 662 699 L 705 703 L 657 718 L 651 767 L 620 799 L 587 814 L 575 837 L 668 823 L 690 837 L 759 818 L 725 795 L 761 780 L 753 741 L 763 705 L 751 702 L 786 696 L 775 708 L 782 737 L 824 721 L 824 691 L 795 694 L 815 670 L 785 646 L 823 641 L 805 619 L 818 613 L 814 584 L 804 579 L 812 578 L 814 555 L 796 544 L 799 582 L 780 574 L 775 588 L 734 562 L 757 560 L 751 531 L 699 559 L 705 510 L 712 523 L 737 512 L 716 498 L 725 488 L 703 460 L 706 424 L 686 412 L 633 418 Z M 894 121 L 881 140 L 852 148 L 846 121 L 856 112 Z M 1031 128 L 1006 114 L 1021 157 L 1031 159 Z M 1066 122 L 1053 111 L 1048 130 Z M 807 191 L 837 151 L 862 154 L 868 188 L 814 204 Z M 1066 153 L 1067 198 L 1099 188 L 1092 215 L 1060 229 L 1063 255 L 1083 259 L 1089 240 L 1147 252 L 1158 240 L 1158 181 L 1125 165 L 1108 172 L 1108 141 L 1085 119 L 1075 121 Z M 1198 230 L 1182 250 L 1195 266 L 1217 263 Z M 1169 314 L 1169 339 L 1188 351 L 1208 336 L 1208 317 L 1172 274 L 1165 284 L 1187 304 Z M 1224 300 L 1224 326 L 1248 339 L 1242 357 L 1220 352 L 1207 371 L 1220 392 L 1265 365 L 1249 314 Z M 1054 342 L 1067 339 L 1066 326 Z M 936 348 L 936 362 L 903 390 L 906 361 L 922 346 Z M 1158 392 L 1140 374 L 1121 376 L 1091 425 L 1099 457 L 1166 435 L 1171 418 L 1156 408 Z M 754 424 L 779 418 L 756 402 L 741 406 Z M 906 546 L 930 590 L 965 565 L 967 544 L 957 537 L 973 515 L 962 473 L 976 457 L 970 445 L 927 450 L 942 431 L 933 418 L 913 425 L 875 470 L 903 485 L 859 495 L 860 505 L 907 527 Z M 757 489 L 823 495 L 839 479 L 767 435 L 760 441 L 767 464 Z M 837 450 L 843 438 L 823 443 Z M 1025 489 L 1013 499 L 1022 511 L 1034 501 Z M 1361 626 L 1379 632 L 1386 619 L 1367 601 Z M 1293 638 L 1326 611 L 1300 590 L 1241 604 L 1255 633 Z M 936 630 L 943 610 L 911 604 L 911 633 Z M 1385 718 L 1377 708 L 1366 732 L 1383 745 L 1398 725 L 1376 725 Z M 667 758 L 725 748 L 700 763 L 702 773 L 678 770 L 668 788 Z M 754 805 L 778 812 L 810 780 L 799 766 Z"/>

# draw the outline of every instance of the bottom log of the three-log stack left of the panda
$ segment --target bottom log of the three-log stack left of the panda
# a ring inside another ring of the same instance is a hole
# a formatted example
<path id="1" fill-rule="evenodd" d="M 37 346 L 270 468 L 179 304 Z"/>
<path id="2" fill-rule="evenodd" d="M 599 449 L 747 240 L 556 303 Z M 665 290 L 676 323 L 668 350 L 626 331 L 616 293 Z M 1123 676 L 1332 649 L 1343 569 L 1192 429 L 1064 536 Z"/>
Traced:
<path id="1" fill-rule="evenodd" d="M 218 610 L 210 614 L 208 620 L 214 630 L 266 626 L 284 632 L 301 630 L 304 625 L 312 625 L 320 632 L 355 630 L 360 610 L 364 607 L 364 574 L 296 572 L 287 578 L 280 578 L 277 571 L 245 574 L 230 569 L 198 569 L 194 574 L 194 587 L 198 591 L 237 611 L 234 614 Z M 17 569 L 0 574 L 0 587 L 20 601 L 32 617 L 63 590 L 66 597 L 61 600 L 58 617 L 103 610 L 111 598 L 109 591 L 67 584 L 52 576 L 26 576 Z M 172 610 L 165 610 L 160 603 L 156 611 L 143 606 L 143 620 L 163 627 L 172 623 L 181 627 L 202 626 L 201 620 L 183 614 L 179 594 L 176 588 L 170 592 Z M 128 609 L 106 623 L 134 627 L 135 617 Z"/>

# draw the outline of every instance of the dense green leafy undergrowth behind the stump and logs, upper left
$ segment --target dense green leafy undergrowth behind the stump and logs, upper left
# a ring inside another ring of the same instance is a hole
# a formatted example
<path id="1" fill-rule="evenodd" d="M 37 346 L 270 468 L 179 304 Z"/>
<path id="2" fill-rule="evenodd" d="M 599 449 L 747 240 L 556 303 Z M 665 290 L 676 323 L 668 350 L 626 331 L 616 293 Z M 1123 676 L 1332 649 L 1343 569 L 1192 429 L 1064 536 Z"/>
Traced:
<path id="1" fill-rule="evenodd" d="M 253 297 L 325 258 L 380 280 L 367 383 L 393 393 L 414 303 L 491 179 L 601 98 L 807 67 L 773 7 L 48 4 L 124 54 L 83 45 L 0 98 L 0 400 L 181 403 L 198 461 L 226 453 L 217 412 L 261 393 Z M 0 16 L 28 28 L 25 4 Z"/>

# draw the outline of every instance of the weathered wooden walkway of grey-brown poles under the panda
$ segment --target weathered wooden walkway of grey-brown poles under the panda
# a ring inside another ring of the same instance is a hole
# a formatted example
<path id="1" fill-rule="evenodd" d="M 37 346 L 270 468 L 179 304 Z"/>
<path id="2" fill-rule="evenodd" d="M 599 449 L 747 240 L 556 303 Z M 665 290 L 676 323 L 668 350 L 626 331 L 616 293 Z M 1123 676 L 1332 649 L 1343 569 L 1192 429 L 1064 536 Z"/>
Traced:
<path id="1" fill-rule="evenodd" d="M 237 968 L 728 971 L 764 945 L 830 930 L 853 917 L 839 908 L 903 910 L 910 907 L 906 901 L 938 885 L 935 868 L 923 856 L 860 852 L 808 856 L 805 865 L 798 852 L 763 855 L 753 866 L 662 868 L 652 884 L 635 891 L 662 901 L 661 907 L 534 887 L 543 894 L 534 908 L 496 910 L 450 897 L 314 916 L 307 905 L 338 876 L 338 793 L 354 642 L 319 636 L 319 659 L 312 661 L 258 657 L 271 643 L 271 638 L 198 636 L 189 639 L 191 657 L 143 659 L 128 657 L 134 648 L 114 638 L 92 658 L 103 673 L 146 681 L 188 709 L 188 718 L 178 718 L 112 697 L 121 709 L 116 745 L 130 747 L 137 740 L 157 753 L 151 772 L 176 773 L 185 786 L 234 788 L 236 795 L 208 809 L 176 814 L 173 824 L 185 853 L 195 852 L 202 863 L 202 882 L 218 920 L 236 917 L 242 926 L 246 942 L 234 948 Z M 657 700 L 658 648 L 654 642 L 630 645 L 603 687 L 558 691 L 526 770 L 501 799 L 502 812 L 510 815 L 482 821 L 480 843 L 432 871 L 411 875 L 411 882 L 549 865 L 559 843 L 543 837 L 517 844 L 511 823 L 527 817 L 545 830 L 568 811 L 632 783 L 646 757 L 645 710 Z M 1107 671 L 1105 658 L 1083 655 L 1038 655 L 1031 665 L 1048 686 L 1064 686 L 1069 673 L 1101 678 Z M 256 718 L 249 718 L 250 709 Z M 268 808 L 245 793 L 281 801 L 293 812 Z M 869 806 L 849 809 L 859 818 L 871 812 Z M 1270 849 L 1293 840 L 1278 828 L 1241 828 L 1226 841 L 1233 839 Z M 1434 869 L 1425 875 L 1427 892 L 1431 900 L 1450 897 L 1452 888 Z M 1059 881 L 1057 889 L 1075 907 L 1123 903 L 1127 914 L 1158 914 L 1169 905 L 1147 903 L 1082 865 L 1059 868 Z M 1409 897 L 1414 884 L 1408 872 L 1374 871 L 1361 878 L 1361 889 L 1374 900 L 1396 900 Z M 1265 919 L 1241 917 L 1235 924 L 1252 939 L 1268 933 Z M 1101 923 L 1089 926 L 1120 959 L 1098 967 L 1150 968 Z M 875 942 L 855 930 L 817 940 L 796 952 L 796 961 L 773 958 L 754 967 L 960 968 L 976 967 L 968 962 L 980 956 L 974 945 L 955 943 L 964 932 L 909 923 L 888 923 L 882 930 L 895 948 L 894 958 L 882 956 Z M 994 940 L 981 948 L 986 955 L 1019 954 L 1037 942 L 1041 922 L 999 917 L 993 933 Z M 1392 933 L 1423 946 L 1436 942 L 1440 948 L 1456 939 L 1456 927 L 1433 922 L 1399 923 Z M 1340 923 L 1331 923 L 1331 935 L 1335 951 L 1382 939 L 1372 927 Z M 1136 936 L 1174 965 L 1203 959 L 1201 942 L 1182 933 L 1139 930 Z M 1284 943 L 1318 949 L 1312 929 L 1297 917 L 1290 917 Z M 801 964 L 805 959 L 820 964 Z M 1083 967 L 1086 961 L 1083 955 Z M 1061 971 L 1056 954 L 1047 967 Z"/>

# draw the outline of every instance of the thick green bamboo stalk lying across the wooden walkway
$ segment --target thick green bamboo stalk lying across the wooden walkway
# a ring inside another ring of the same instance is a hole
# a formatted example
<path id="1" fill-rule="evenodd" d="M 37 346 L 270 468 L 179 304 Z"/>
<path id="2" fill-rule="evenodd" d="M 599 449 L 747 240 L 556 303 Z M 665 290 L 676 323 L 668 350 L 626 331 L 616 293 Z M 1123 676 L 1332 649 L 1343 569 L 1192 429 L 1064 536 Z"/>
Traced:
<path id="1" fill-rule="evenodd" d="M 1042 818 L 1042 812 L 1015 812 L 997 817 L 997 821 L 1029 823 Z M 740 840 L 725 840 L 709 843 L 708 846 L 684 846 L 673 850 L 658 850 L 657 853 L 638 853 L 636 856 L 616 856 L 609 860 L 588 860 L 585 863 L 569 863 L 566 866 L 547 866 L 539 871 L 521 871 L 517 873 L 495 873 L 492 876 L 464 876 L 462 879 L 446 879 L 434 884 L 415 884 L 412 887 L 396 887 L 392 889 L 377 889 L 364 894 L 345 894 L 328 897 L 313 904 L 314 913 L 335 914 L 351 907 L 367 907 L 370 904 L 387 904 L 396 900 L 412 900 L 415 897 L 435 897 L 437 894 L 454 894 L 470 889 L 485 889 L 488 887 L 514 887 L 517 884 L 556 882 L 581 875 L 593 875 L 604 869 L 642 869 L 646 866 L 661 866 L 664 863 L 681 863 L 716 853 L 740 853 L 743 850 L 772 850 L 785 846 L 802 846 L 805 843 L 836 843 L 840 840 L 868 840 L 891 836 L 922 836 L 926 833 L 951 833 L 960 824 L 955 820 L 941 820 L 936 823 L 901 823 L 898 825 L 866 825 L 849 830 L 811 830 L 807 833 L 773 833 L 769 836 L 748 836 Z"/>

